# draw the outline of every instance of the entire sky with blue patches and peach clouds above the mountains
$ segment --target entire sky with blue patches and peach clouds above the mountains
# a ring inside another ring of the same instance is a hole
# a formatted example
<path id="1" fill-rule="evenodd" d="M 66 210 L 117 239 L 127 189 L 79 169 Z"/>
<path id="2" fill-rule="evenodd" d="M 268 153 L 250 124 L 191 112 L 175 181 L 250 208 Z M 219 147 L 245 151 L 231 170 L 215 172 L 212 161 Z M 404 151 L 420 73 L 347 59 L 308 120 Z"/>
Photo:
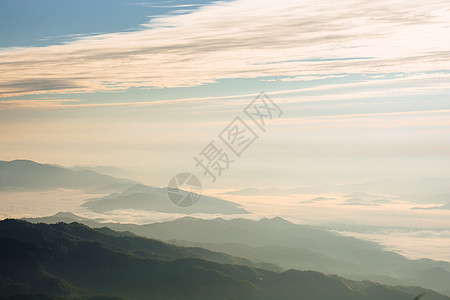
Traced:
<path id="1" fill-rule="evenodd" d="M 3 160 L 224 189 L 449 176 L 448 1 L 2 0 L 0 36 Z M 193 158 L 236 117 L 258 138 L 219 145 L 212 182 Z"/>

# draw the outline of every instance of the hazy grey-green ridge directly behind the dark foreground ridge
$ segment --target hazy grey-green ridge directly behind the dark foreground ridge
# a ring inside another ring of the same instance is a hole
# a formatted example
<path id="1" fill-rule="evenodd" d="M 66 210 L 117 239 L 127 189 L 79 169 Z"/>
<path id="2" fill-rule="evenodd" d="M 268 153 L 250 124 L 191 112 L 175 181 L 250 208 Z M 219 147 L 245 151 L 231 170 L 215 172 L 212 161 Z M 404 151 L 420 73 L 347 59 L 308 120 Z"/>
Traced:
<path id="1" fill-rule="evenodd" d="M 379 244 L 342 236 L 320 227 L 281 218 L 202 220 L 181 218 L 147 225 L 98 223 L 70 213 L 27 219 L 31 222 L 80 222 L 107 226 L 182 246 L 197 246 L 275 264 L 284 270 L 315 270 L 389 285 L 418 285 L 450 296 L 450 263 L 410 260 Z"/>

